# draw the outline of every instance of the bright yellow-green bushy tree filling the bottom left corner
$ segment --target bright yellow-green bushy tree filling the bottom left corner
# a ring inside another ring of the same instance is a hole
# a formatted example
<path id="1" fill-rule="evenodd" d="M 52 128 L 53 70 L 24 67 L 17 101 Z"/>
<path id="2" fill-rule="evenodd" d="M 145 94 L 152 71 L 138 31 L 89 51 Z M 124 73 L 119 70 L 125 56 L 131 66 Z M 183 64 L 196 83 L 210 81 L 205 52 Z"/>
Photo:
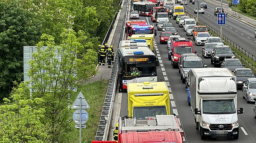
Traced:
<path id="1" fill-rule="evenodd" d="M 28 84 L 14 88 L 0 106 L 0 143 L 43 143 L 46 134 L 40 120 L 45 110 L 38 106 L 42 103 L 41 98 L 30 99 Z"/>

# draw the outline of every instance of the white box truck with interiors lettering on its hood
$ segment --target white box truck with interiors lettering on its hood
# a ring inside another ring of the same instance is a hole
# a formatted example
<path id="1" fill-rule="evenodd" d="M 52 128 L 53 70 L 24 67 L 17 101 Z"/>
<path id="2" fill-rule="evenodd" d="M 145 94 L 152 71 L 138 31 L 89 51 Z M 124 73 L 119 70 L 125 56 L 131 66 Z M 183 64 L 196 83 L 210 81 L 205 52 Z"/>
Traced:
<path id="1" fill-rule="evenodd" d="M 191 69 L 191 111 L 195 127 L 205 137 L 239 138 L 236 76 L 227 68 Z"/>

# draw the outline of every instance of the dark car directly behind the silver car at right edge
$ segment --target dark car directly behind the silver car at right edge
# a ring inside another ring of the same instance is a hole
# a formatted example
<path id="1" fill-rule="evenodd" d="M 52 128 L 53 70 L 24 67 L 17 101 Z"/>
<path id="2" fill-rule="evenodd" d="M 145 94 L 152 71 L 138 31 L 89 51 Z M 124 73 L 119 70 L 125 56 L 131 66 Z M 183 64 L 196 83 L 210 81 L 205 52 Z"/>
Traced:
<path id="1" fill-rule="evenodd" d="M 237 88 L 242 88 L 247 78 L 255 78 L 255 75 L 252 69 L 249 69 L 249 68 L 237 68 L 233 72 L 234 72 L 234 75 L 236 76 Z"/>

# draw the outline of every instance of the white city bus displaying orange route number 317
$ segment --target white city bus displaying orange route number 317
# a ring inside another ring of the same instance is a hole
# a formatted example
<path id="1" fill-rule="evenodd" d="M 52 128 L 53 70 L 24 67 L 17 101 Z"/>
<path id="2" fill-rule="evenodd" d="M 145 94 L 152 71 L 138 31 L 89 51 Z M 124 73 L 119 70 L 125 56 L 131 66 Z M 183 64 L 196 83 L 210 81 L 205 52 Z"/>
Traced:
<path id="1" fill-rule="evenodd" d="M 156 66 L 159 66 L 159 61 L 148 46 L 121 47 L 118 61 L 123 89 L 127 89 L 128 83 L 157 82 Z M 138 75 L 132 75 L 133 67 L 137 68 Z"/>

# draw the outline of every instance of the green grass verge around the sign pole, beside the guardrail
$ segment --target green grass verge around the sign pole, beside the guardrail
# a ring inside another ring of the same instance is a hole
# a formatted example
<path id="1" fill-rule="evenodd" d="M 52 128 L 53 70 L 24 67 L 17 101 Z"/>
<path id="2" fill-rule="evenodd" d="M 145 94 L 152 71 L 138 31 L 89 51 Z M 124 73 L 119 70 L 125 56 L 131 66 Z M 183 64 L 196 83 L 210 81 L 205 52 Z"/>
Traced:
<path id="1" fill-rule="evenodd" d="M 85 96 L 85 99 L 91 107 L 90 109 L 86 109 L 89 114 L 89 119 L 85 123 L 87 128 L 82 129 L 82 143 L 91 143 L 92 140 L 95 140 L 100 115 L 108 88 L 108 82 L 109 80 L 100 80 L 91 82 L 89 84 L 84 84 L 78 89 L 74 96 L 70 97 L 70 100 L 72 101 L 71 103 L 73 103 L 78 93 L 82 91 L 82 94 Z M 73 124 L 75 127 L 74 122 Z M 79 143 L 79 129 L 77 128 L 70 132 L 68 134 L 68 138 L 69 141 L 67 143 Z"/>

